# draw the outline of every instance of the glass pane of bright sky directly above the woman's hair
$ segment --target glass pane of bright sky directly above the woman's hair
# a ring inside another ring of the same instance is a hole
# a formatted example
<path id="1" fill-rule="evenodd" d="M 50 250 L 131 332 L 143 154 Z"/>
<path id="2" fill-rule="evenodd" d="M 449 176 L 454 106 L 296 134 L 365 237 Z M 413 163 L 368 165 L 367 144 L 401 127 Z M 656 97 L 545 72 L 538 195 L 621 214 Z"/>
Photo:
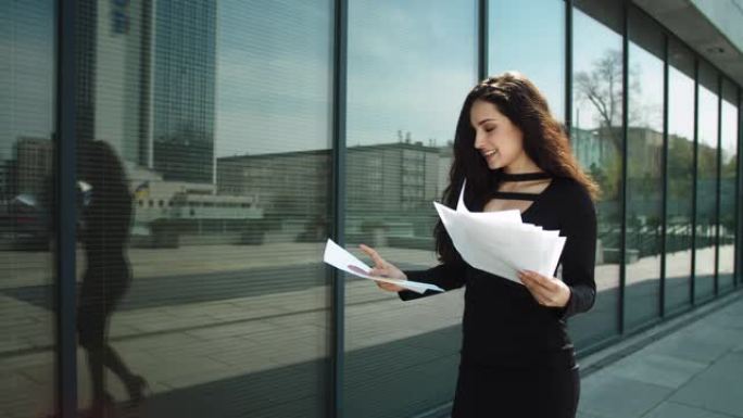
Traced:
<path id="1" fill-rule="evenodd" d="M 498 0 L 488 5 L 488 73 L 516 69 L 531 79 L 565 121 L 565 1 Z M 539 50 L 539 54 L 524 51 Z"/>

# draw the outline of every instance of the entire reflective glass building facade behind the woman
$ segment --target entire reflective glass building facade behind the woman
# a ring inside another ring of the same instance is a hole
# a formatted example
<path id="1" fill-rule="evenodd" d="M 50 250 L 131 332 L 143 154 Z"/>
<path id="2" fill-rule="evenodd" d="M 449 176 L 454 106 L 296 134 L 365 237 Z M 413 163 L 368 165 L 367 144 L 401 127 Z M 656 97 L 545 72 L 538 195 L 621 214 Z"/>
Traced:
<path id="1" fill-rule="evenodd" d="M 0 4 L 0 417 L 448 416 L 462 290 L 323 251 L 436 265 L 462 102 L 507 69 L 603 191 L 579 356 L 740 289 L 741 86 L 630 2 Z"/>

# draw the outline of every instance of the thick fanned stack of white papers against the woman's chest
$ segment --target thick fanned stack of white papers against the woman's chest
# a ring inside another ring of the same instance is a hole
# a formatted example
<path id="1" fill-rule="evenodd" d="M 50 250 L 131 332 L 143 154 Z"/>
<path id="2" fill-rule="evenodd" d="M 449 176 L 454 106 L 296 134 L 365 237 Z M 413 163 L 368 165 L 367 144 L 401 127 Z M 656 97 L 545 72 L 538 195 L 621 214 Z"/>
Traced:
<path id="1" fill-rule="evenodd" d="M 521 283 L 518 270 L 552 277 L 565 246 L 557 230 L 524 224 L 518 210 L 470 213 L 462 186 L 456 211 L 433 202 L 454 246 L 470 266 Z"/>

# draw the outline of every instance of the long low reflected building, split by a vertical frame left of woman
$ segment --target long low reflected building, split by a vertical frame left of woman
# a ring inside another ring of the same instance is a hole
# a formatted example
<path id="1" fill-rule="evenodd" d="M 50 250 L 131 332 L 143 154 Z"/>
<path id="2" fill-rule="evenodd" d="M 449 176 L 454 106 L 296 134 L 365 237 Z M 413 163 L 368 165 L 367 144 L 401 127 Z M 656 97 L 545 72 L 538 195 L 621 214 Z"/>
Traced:
<path id="1" fill-rule="evenodd" d="M 421 142 L 358 145 L 348 149 L 347 164 L 354 167 L 347 178 L 349 210 L 390 217 L 431 208 L 442 192 L 451 150 Z M 257 193 L 266 211 L 278 216 L 325 216 L 330 168 L 328 150 L 222 157 L 217 192 Z"/>

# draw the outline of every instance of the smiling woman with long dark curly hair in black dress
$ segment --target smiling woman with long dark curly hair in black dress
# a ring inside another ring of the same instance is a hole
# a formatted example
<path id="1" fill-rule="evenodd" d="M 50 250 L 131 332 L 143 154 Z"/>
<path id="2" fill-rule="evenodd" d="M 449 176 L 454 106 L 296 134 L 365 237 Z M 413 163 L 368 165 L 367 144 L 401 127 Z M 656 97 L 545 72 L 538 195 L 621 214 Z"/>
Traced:
<path id="1" fill-rule="evenodd" d="M 566 319 L 595 300 L 599 188 L 581 172 L 543 96 L 519 73 L 490 77 L 467 96 L 443 195 L 448 206 L 455 207 L 465 179 L 473 212 L 516 208 L 525 223 L 567 237 L 555 277 L 521 270 L 520 284 L 476 269 L 462 259 L 440 220 L 440 265 L 401 271 L 362 244 L 375 262 L 372 275 L 445 290 L 466 284 L 453 418 L 575 417 L 580 380 Z M 404 301 L 437 294 L 377 284 Z"/>

